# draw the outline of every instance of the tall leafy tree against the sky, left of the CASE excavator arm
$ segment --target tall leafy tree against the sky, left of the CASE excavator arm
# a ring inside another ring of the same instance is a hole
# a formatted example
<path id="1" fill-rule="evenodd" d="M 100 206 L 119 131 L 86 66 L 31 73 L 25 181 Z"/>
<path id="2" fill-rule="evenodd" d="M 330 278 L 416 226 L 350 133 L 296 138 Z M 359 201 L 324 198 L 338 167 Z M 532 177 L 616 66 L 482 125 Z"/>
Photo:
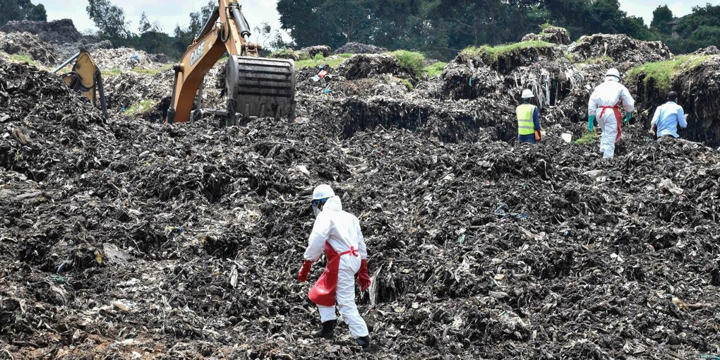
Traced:
<path id="1" fill-rule="evenodd" d="M 130 30 L 125 22 L 125 11 L 108 0 L 88 0 L 86 11 L 103 39 L 110 40 L 115 46 L 127 44 Z"/>

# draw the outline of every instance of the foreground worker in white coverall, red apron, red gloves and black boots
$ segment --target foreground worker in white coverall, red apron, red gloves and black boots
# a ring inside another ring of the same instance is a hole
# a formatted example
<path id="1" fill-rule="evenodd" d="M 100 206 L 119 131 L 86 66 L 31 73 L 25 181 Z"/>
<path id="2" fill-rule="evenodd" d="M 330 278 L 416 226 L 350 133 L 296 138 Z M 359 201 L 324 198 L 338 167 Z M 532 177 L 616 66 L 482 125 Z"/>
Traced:
<path id="1" fill-rule="evenodd" d="M 336 306 L 343 320 L 350 328 L 351 335 L 362 347 L 370 351 L 370 336 L 365 320 L 355 305 L 355 274 L 361 291 L 370 287 L 367 272 L 367 249 L 360 231 L 360 222 L 355 215 L 343 211 L 339 197 L 328 185 L 319 185 L 312 192 L 312 210 L 315 225 L 308 238 L 305 261 L 297 276 L 299 282 L 307 281 L 312 262 L 318 261 L 325 252 L 328 264 L 318 282 L 310 289 L 310 300 L 318 305 L 323 327 L 312 336 L 332 339 L 337 323 Z"/>

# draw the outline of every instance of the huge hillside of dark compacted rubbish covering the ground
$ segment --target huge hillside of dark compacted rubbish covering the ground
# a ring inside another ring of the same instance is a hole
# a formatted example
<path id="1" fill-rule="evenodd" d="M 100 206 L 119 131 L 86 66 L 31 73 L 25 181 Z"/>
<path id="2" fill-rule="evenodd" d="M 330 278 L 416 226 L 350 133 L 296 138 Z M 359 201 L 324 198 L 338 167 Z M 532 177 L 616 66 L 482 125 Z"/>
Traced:
<path id="1" fill-rule="evenodd" d="M 105 120 L 48 73 L 52 38 L 6 32 L 0 359 L 717 359 L 720 55 L 562 35 L 467 49 L 437 76 L 348 55 L 298 70 L 297 117 L 219 127 L 158 121 L 161 55 L 91 50 Z M 32 63 L 27 39 L 48 44 Z M 223 66 L 207 107 L 225 104 Z M 584 129 L 611 66 L 639 112 L 603 160 Z M 655 140 L 668 86 L 690 126 Z M 538 145 L 514 140 L 525 87 Z M 321 183 L 366 238 L 373 354 L 342 323 L 334 341 L 309 336 L 323 261 L 295 279 Z"/>

